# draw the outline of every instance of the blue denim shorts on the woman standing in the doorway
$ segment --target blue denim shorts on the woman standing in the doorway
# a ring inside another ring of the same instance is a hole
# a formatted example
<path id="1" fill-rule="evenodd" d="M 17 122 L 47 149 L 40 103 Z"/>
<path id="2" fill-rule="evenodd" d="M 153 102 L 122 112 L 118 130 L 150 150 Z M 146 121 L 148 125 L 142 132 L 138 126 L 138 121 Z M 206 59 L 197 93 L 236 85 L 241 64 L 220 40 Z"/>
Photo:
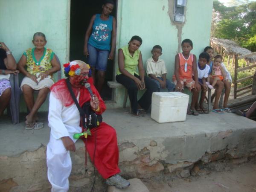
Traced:
<path id="1" fill-rule="evenodd" d="M 97 49 L 90 44 L 87 44 L 88 58 L 87 64 L 95 67 L 96 70 L 106 71 L 108 64 L 109 50 Z"/>

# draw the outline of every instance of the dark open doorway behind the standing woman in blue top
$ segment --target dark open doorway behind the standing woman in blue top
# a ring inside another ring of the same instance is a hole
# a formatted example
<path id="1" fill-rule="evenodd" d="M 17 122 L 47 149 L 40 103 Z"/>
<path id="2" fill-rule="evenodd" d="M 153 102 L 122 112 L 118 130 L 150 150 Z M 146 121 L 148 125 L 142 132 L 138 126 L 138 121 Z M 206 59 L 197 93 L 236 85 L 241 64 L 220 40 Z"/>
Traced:
<path id="1" fill-rule="evenodd" d="M 113 0 L 116 5 L 116 0 Z M 102 13 L 102 0 L 71 0 L 70 6 L 70 61 L 75 59 L 87 62 L 83 55 L 84 35 L 91 17 L 96 13 Z M 111 13 L 116 17 L 116 6 Z M 107 81 L 113 79 L 114 62 L 108 61 L 106 70 L 105 84 L 101 93 L 102 99 L 111 100 L 111 88 L 108 87 Z"/>

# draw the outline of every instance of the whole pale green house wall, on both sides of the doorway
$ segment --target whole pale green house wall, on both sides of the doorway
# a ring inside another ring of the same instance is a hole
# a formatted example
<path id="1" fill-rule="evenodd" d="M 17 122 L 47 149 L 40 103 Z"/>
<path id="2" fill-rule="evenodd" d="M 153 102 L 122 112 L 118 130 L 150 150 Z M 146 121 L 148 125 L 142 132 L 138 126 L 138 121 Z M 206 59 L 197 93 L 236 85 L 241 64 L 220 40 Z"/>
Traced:
<path id="1" fill-rule="evenodd" d="M 175 25 L 172 22 L 174 0 L 118 0 L 116 50 L 127 45 L 131 36 L 139 35 L 143 39 L 140 50 L 145 64 L 152 47 L 160 44 L 167 77 L 172 79 L 174 58 L 182 39 L 193 41 L 192 52 L 197 56 L 209 44 L 212 1 L 187 0 L 186 21 Z M 27 48 L 33 47 L 35 32 L 44 32 L 47 47 L 53 49 L 62 64 L 69 60 L 70 0 L 0 0 L 0 18 L 0 41 L 12 50 L 16 61 Z M 116 103 L 111 108 L 121 107 L 124 89 L 116 89 L 114 94 Z M 39 111 L 47 109 L 48 102 L 45 102 Z M 23 100 L 21 111 L 26 111 Z"/>

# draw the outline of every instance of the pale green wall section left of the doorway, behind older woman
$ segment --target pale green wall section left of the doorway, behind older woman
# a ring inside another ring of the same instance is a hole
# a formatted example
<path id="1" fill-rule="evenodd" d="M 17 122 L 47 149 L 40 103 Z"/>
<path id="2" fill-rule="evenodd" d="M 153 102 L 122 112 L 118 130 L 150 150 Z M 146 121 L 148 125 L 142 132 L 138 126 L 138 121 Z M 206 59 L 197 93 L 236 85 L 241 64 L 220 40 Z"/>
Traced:
<path id="1" fill-rule="evenodd" d="M 61 63 L 69 58 L 70 0 L 0 0 L 0 41 L 6 43 L 18 62 L 22 53 L 33 47 L 35 32 L 43 32 L 46 47 Z M 39 111 L 48 111 L 48 100 Z M 20 111 L 26 111 L 23 99 Z"/>

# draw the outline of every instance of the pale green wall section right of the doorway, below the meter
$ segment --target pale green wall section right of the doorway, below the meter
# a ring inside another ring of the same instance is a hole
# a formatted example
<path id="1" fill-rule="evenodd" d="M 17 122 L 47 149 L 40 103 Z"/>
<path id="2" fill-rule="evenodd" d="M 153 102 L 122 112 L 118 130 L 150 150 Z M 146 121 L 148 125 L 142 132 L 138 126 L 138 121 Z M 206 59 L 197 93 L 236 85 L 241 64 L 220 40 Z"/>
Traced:
<path id="1" fill-rule="evenodd" d="M 173 2 L 174 0 L 120 0 L 117 14 L 116 47 L 127 45 L 133 35 L 139 35 L 143 39 L 140 50 L 145 66 L 146 60 L 151 57 L 152 47 L 159 44 L 163 48 L 161 58 L 166 62 L 168 79 L 172 79 L 175 55 L 181 50 L 179 40 L 181 43 L 185 38 L 191 39 L 194 44 L 192 53 L 196 56 L 209 45 L 213 0 L 187 0 L 183 25 L 172 22 Z M 117 69 L 117 59 L 115 66 Z M 115 93 L 116 102 L 121 105 L 123 91 L 116 90 Z"/>

